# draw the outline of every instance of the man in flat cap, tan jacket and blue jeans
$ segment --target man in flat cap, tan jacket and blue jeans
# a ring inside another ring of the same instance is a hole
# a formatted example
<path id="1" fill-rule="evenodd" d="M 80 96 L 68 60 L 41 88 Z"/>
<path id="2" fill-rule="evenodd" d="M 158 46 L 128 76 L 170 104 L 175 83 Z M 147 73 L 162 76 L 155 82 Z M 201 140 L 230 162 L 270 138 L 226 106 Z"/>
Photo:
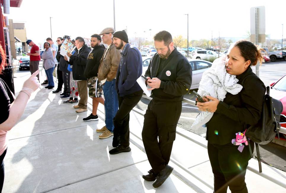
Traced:
<path id="1" fill-rule="evenodd" d="M 99 139 L 106 139 L 113 136 L 113 118 L 118 110 L 118 99 L 115 89 L 115 77 L 117 68 L 120 62 L 120 51 L 116 49 L 112 42 L 113 28 L 105 28 L 99 34 L 104 44 L 108 47 L 105 49 L 104 54 L 100 60 L 98 68 L 98 80 L 103 84 L 104 94 L 104 109 L 105 109 L 105 126 L 101 129 L 97 129 L 96 132 L 102 133 L 98 137 Z"/>

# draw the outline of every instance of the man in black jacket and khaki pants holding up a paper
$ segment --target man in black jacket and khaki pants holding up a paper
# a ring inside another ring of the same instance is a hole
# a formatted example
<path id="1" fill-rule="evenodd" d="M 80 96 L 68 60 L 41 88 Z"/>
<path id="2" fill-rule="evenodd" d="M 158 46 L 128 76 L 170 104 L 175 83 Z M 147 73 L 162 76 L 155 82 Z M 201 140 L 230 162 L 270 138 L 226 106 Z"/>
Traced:
<path id="1" fill-rule="evenodd" d="M 76 37 L 76 49 L 74 55 L 67 52 L 70 57 L 69 64 L 73 66 L 73 78 L 77 81 L 77 89 L 79 92 L 79 104 L 74 108 L 77 113 L 87 111 L 87 78 L 84 76 L 84 70 L 87 65 L 87 57 L 91 49 L 85 44 L 84 38 Z M 64 57 L 66 61 L 68 58 Z"/>

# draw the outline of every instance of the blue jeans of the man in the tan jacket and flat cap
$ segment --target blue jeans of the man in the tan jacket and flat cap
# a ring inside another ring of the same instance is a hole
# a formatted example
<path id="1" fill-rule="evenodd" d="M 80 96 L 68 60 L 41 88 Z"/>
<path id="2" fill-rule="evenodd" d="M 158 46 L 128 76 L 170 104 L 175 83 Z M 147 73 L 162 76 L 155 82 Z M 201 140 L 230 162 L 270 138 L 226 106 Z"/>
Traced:
<path id="1" fill-rule="evenodd" d="M 114 125 L 113 118 L 118 110 L 118 98 L 115 89 L 115 79 L 106 81 L 103 85 L 104 94 L 104 109 L 105 109 L 105 124 L 109 131 L 113 133 Z"/>

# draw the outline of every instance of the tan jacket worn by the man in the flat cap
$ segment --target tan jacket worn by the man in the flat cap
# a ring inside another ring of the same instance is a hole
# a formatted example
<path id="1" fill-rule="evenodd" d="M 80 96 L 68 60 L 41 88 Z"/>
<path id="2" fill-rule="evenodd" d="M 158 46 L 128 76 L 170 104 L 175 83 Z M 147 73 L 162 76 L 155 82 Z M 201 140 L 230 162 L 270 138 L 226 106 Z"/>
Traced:
<path id="1" fill-rule="evenodd" d="M 106 51 L 107 53 L 106 56 L 104 57 Z M 120 58 L 121 58 L 120 50 L 116 49 L 113 43 L 111 44 L 108 50 L 105 49 L 98 68 L 99 81 L 102 81 L 105 78 L 107 81 L 112 81 L 116 77 Z"/>

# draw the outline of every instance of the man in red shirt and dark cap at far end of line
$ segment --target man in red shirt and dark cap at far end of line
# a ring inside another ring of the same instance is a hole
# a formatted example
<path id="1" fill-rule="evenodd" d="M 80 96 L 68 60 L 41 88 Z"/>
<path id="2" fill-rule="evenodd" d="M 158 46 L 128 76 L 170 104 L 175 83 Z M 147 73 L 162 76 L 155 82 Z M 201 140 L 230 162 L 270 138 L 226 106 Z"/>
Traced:
<path id="1" fill-rule="evenodd" d="M 39 46 L 37 46 L 32 40 L 27 40 L 26 43 L 29 46 L 32 46 L 30 53 L 28 53 L 27 55 L 30 56 L 30 72 L 31 74 L 33 74 L 34 72 L 39 70 L 39 63 L 41 60 L 40 49 Z M 39 74 L 37 75 L 37 77 L 38 81 L 40 81 Z"/>

